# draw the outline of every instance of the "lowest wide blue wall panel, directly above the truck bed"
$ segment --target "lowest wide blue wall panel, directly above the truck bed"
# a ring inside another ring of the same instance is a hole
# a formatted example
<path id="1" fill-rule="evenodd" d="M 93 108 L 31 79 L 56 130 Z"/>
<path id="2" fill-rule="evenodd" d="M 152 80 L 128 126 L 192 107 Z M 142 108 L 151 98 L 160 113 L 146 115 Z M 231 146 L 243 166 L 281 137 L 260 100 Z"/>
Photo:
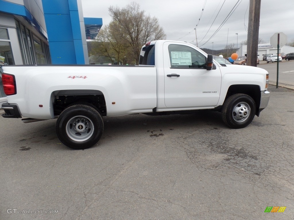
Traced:
<path id="1" fill-rule="evenodd" d="M 73 41 L 49 42 L 49 47 L 53 64 L 76 64 Z"/>

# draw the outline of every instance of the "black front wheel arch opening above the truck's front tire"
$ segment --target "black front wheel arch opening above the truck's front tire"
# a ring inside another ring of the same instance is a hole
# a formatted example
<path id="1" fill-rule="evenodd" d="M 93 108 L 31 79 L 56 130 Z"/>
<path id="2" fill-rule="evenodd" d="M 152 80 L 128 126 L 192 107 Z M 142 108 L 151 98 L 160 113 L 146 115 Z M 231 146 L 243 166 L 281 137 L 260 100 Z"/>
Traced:
<path id="1" fill-rule="evenodd" d="M 246 95 L 249 95 L 250 97 L 253 98 L 253 100 L 255 101 L 255 105 L 256 105 L 256 112 L 255 115 L 259 116 L 259 106 L 260 106 L 260 98 L 261 98 L 261 94 L 260 94 L 260 86 L 259 85 L 250 85 L 250 84 L 236 84 L 236 85 L 231 85 L 228 88 L 225 100 L 228 99 L 228 97 L 230 97 L 233 94 L 236 93 L 243 93 Z"/>

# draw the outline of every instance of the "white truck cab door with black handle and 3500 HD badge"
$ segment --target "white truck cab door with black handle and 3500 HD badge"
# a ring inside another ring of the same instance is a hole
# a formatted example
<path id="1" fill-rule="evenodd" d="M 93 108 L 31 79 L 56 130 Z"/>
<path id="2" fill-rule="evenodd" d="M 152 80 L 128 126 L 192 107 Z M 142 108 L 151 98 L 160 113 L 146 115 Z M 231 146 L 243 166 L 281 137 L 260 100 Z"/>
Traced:
<path id="1" fill-rule="evenodd" d="M 167 108 L 216 106 L 220 68 L 206 70 L 206 55 L 185 43 L 163 44 L 164 101 Z"/>

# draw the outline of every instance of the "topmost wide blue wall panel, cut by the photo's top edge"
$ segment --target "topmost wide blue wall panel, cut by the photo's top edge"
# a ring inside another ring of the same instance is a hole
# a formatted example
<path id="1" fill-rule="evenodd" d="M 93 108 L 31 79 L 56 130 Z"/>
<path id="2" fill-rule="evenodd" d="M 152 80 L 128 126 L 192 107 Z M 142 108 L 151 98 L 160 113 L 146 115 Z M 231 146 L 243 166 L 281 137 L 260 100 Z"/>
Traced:
<path id="1" fill-rule="evenodd" d="M 42 0 L 44 14 L 69 14 L 68 1 Z"/>

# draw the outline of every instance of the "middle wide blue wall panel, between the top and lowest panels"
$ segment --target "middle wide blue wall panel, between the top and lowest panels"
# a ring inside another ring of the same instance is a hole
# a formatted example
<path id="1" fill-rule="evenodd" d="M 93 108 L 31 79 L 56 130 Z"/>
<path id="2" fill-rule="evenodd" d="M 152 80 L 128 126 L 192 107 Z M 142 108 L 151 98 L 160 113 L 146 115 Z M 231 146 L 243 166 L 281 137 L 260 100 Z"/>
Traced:
<path id="1" fill-rule="evenodd" d="M 45 14 L 45 22 L 49 42 L 74 40 L 69 14 Z"/>

